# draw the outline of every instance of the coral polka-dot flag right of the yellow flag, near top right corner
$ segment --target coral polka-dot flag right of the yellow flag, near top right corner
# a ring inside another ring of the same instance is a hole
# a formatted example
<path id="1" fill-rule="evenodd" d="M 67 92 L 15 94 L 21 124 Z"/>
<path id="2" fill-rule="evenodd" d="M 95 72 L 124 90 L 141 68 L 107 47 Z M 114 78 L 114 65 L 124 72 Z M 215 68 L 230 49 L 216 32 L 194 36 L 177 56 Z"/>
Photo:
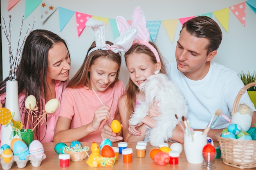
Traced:
<path id="1" fill-rule="evenodd" d="M 229 7 L 229 9 L 234 13 L 243 26 L 245 26 L 245 2 Z"/>

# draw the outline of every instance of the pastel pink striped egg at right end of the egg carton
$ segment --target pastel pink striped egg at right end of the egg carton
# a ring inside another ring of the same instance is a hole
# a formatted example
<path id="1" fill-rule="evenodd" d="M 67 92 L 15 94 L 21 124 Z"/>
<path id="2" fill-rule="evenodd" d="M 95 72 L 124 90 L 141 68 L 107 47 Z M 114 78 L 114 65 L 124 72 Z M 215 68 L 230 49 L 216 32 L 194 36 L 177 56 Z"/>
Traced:
<path id="1" fill-rule="evenodd" d="M 34 140 L 29 144 L 29 154 L 33 155 L 36 159 L 38 160 L 42 159 L 44 153 L 45 153 L 45 150 L 40 141 Z"/>

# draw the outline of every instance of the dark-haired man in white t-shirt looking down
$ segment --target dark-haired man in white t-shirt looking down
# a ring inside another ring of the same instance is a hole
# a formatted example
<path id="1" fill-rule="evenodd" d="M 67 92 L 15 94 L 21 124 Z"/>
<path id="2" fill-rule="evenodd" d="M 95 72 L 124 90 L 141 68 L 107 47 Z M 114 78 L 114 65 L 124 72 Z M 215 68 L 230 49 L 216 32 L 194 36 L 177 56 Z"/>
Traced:
<path id="1" fill-rule="evenodd" d="M 230 119 L 235 98 L 244 86 L 236 72 L 211 61 L 221 40 L 222 32 L 214 20 L 206 16 L 192 18 L 183 24 L 180 31 L 176 62 L 166 66 L 169 78 L 180 87 L 187 100 L 187 119 L 194 130 L 203 131 L 218 109 Z M 239 103 L 247 104 L 254 111 L 253 125 L 256 109 L 247 92 Z M 220 116 L 208 132 L 213 141 L 217 141 L 216 135 L 229 125 L 226 119 Z"/>

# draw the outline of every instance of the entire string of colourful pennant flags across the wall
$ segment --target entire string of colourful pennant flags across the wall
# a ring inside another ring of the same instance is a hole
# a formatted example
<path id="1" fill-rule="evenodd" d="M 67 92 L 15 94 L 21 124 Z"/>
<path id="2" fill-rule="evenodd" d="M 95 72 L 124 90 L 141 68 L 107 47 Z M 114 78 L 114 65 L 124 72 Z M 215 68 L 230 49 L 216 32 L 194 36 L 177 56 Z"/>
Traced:
<path id="1" fill-rule="evenodd" d="M 11 10 L 16 4 L 18 4 L 20 0 L 9 0 L 7 10 Z M 221 9 L 218 11 L 213 11 L 209 13 L 204 13 L 202 15 L 209 16 L 212 18 L 214 15 L 220 24 L 223 26 L 225 31 L 228 32 L 229 29 L 229 10 L 236 16 L 236 18 L 245 26 L 245 8 L 247 7 L 246 4 L 256 13 L 256 0 L 247 0 L 245 2 L 241 2 L 239 4 L 233 5 L 231 7 L 227 7 L 225 9 Z M 56 6 L 55 4 L 51 4 L 49 2 L 45 2 L 43 0 L 26 0 L 25 2 L 25 19 L 36 9 L 40 7 L 40 20 L 41 23 L 47 22 L 47 18 L 51 17 L 51 15 L 58 9 L 58 16 L 59 16 L 59 29 L 60 32 L 63 30 L 65 25 L 70 21 L 72 16 L 75 14 L 76 16 L 76 29 L 78 37 L 81 35 L 83 30 L 85 29 L 85 23 L 89 18 L 94 18 L 96 20 L 101 20 L 108 24 L 110 22 L 112 33 L 114 39 L 119 36 L 119 31 L 117 29 L 117 22 L 116 19 L 112 18 L 104 18 L 101 16 L 94 16 L 86 13 L 81 13 L 78 11 L 72 11 L 70 9 L 66 9 L 60 6 Z M 199 15 L 189 16 L 186 18 L 178 18 L 178 19 L 171 19 L 171 20 L 154 20 L 154 21 L 146 21 L 146 26 L 150 33 L 150 39 L 152 42 L 155 42 L 157 37 L 157 33 L 161 23 L 164 26 L 164 29 L 170 38 L 171 42 L 173 43 L 176 27 L 178 22 L 183 24 L 187 20 L 194 18 Z M 128 23 L 131 24 L 131 21 L 128 20 Z"/>

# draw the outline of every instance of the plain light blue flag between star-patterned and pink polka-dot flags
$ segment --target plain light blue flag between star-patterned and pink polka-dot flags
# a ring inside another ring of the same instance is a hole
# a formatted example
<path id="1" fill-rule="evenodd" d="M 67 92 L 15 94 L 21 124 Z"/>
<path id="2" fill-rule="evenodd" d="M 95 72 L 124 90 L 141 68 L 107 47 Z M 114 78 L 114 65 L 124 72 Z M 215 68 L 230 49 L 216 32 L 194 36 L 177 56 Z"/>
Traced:
<path id="1" fill-rule="evenodd" d="M 71 11 L 69 9 L 58 7 L 58 18 L 59 18 L 59 23 L 60 23 L 60 32 L 65 27 L 67 22 L 72 18 L 74 13 L 75 13 L 75 11 Z"/>

